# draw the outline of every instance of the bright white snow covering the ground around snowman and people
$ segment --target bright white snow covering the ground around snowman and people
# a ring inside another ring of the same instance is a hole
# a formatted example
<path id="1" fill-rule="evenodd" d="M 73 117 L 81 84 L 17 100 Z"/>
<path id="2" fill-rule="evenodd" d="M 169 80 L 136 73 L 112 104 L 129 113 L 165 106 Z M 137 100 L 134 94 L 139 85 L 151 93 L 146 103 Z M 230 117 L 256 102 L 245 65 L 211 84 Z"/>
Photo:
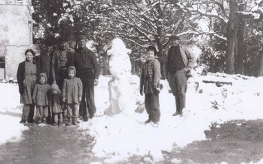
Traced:
<path id="1" fill-rule="evenodd" d="M 136 83 L 136 78 L 133 78 Z M 121 163 L 134 155 L 145 156 L 145 162 L 162 161 L 164 157 L 161 150 L 171 151 L 174 147 L 182 148 L 193 141 L 206 139 L 204 130 L 209 130 L 209 126 L 215 122 L 222 124 L 231 119 L 263 119 L 263 115 L 260 115 L 263 78 L 223 73 L 199 76 L 195 73 L 189 79 L 187 107 L 183 117 L 172 116 L 176 112 L 175 99 L 169 93 L 168 82 L 162 80 L 164 88 L 160 93 L 161 117 L 158 128 L 143 124 L 148 118 L 146 111 L 141 114 L 126 112 L 114 116 L 104 115 L 104 110 L 110 106 L 110 79 L 103 76 L 99 78 L 99 84 L 95 86 L 96 117 L 79 126 L 84 135 L 95 137 L 92 154 L 104 159 L 103 163 Z M 218 87 L 215 83 L 203 81 L 231 82 L 232 85 L 219 84 Z M 127 87 L 138 89 L 136 86 L 138 83 Z M 0 144 L 19 141 L 23 137 L 21 131 L 28 128 L 19 124 L 22 106 L 19 104 L 18 86 L 0 84 L 0 91 Z M 137 93 L 134 96 L 143 102 L 144 97 L 139 95 L 139 91 Z M 173 159 L 172 163 L 178 161 L 180 159 Z"/>

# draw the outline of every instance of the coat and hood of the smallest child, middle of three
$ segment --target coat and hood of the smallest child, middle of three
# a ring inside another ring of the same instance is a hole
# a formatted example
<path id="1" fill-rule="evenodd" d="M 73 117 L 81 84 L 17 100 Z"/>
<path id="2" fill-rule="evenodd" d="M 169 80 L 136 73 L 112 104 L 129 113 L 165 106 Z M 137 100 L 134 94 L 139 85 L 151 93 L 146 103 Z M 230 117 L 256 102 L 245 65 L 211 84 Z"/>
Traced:
<path id="1" fill-rule="evenodd" d="M 57 91 L 56 95 L 52 93 L 52 91 L 55 90 Z M 59 86 L 56 84 L 52 84 L 50 87 L 50 107 L 52 109 L 52 113 L 62 113 L 63 110 L 61 108 L 61 90 L 59 89 Z"/>

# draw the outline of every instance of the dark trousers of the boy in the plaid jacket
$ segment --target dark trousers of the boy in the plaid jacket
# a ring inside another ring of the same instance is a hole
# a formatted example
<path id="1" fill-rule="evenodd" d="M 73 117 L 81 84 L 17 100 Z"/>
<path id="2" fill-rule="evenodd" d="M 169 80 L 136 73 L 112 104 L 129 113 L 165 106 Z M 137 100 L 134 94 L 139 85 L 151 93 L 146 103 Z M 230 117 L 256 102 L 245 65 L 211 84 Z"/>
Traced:
<path id="1" fill-rule="evenodd" d="M 145 94 L 145 108 L 151 121 L 160 121 L 160 104 L 158 93 Z"/>

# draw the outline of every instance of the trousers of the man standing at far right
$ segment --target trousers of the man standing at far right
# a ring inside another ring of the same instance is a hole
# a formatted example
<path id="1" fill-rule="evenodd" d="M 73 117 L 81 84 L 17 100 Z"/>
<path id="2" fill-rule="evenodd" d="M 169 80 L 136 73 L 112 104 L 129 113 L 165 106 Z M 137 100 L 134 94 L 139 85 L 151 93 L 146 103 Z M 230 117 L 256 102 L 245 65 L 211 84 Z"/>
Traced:
<path id="1" fill-rule="evenodd" d="M 169 86 L 171 92 L 176 98 L 176 112 L 182 113 L 182 109 L 185 108 L 185 93 L 187 93 L 187 76 L 181 69 L 176 73 L 171 73 L 168 76 Z"/>

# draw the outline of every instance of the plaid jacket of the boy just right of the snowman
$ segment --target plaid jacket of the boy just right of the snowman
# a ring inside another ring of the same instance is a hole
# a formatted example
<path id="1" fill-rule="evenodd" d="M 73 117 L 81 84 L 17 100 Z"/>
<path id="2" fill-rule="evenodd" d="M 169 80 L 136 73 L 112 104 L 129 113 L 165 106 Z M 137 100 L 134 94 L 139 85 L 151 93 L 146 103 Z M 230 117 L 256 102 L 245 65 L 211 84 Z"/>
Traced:
<path id="1" fill-rule="evenodd" d="M 140 89 L 144 88 L 144 93 L 154 93 L 154 87 L 160 89 L 160 78 L 160 62 L 155 58 L 147 60 L 140 75 Z"/>

